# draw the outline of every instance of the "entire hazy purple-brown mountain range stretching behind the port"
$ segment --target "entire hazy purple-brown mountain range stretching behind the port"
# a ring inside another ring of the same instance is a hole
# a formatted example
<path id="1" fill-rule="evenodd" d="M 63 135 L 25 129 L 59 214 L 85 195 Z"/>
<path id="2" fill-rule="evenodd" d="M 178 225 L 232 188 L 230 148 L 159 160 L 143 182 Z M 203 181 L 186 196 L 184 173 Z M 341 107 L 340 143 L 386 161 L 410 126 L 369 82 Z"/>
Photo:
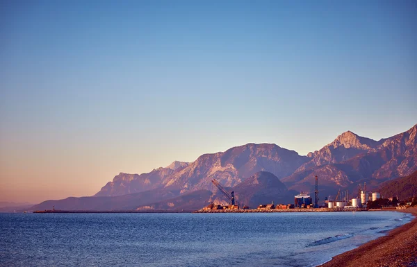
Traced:
<path id="1" fill-rule="evenodd" d="M 416 171 L 416 134 L 417 124 L 379 141 L 347 131 L 306 156 L 276 144 L 246 144 L 149 173 L 120 173 L 95 196 L 48 200 L 32 209 L 200 209 L 211 201 L 227 202 L 213 179 L 250 207 L 272 200 L 293 203 L 295 193 L 314 191 L 315 175 L 324 200 L 338 189 L 356 193 L 366 182 L 373 190 Z"/>

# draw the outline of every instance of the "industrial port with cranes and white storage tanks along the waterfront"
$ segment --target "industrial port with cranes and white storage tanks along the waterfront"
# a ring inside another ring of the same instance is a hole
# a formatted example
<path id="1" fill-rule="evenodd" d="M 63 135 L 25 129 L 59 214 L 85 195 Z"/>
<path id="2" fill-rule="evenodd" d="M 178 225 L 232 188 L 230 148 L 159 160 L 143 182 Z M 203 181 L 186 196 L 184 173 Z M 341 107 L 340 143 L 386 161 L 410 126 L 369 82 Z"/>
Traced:
<path id="1" fill-rule="evenodd" d="M 314 190 L 314 202 L 308 193 L 301 192 L 294 196 L 294 204 L 277 204 L 273 202 L 270 204 L 259 204 L 256 208 L 250 208 L 246 205 L 238 205 L 235 200 L 235 192 L 230 193 L 222 187 L 217 180 L 211 180 L 215 187 L 229 200 L 229 205 L 220 205 L 211 203 L 206 207 L 196 211 L 197 213 L 220 213 L 220 212 L 353 212 L 368 210 L 366 204 L 369 200 L 375 201 L 380 198 L 377 192 L 366 191 L 366 183 L 359 184 L 357 197 L 349 198 L 349 191 L 339 190 L 336 197 L 332 196 L 325 198 L 323 206 L 319 206 L 319 191 L 318 191 L 318 176 L 316 175 L 316 184 Z"/>

